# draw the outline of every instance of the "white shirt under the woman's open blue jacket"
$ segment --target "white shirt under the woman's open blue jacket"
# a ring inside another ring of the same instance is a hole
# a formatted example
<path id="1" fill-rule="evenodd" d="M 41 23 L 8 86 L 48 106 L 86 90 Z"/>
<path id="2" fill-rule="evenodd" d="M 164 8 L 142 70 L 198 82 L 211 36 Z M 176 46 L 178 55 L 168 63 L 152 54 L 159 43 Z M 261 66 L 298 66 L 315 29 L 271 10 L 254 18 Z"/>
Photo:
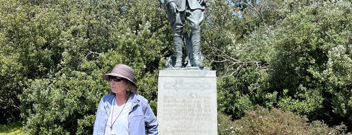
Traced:
<path id="1" fill-rule="evenodd" d="M 127 102 L 121 106 L 117 106 L 116 99 L 113 103 L 114 104 L 110 108 L 110 114 L 106 122 L 105 135 L 126 135 L 128 134 L 128 111 L 131 108 L 131 98 L 129 98 Z M 112 129 L 110 128 L 111 124 Z"/>

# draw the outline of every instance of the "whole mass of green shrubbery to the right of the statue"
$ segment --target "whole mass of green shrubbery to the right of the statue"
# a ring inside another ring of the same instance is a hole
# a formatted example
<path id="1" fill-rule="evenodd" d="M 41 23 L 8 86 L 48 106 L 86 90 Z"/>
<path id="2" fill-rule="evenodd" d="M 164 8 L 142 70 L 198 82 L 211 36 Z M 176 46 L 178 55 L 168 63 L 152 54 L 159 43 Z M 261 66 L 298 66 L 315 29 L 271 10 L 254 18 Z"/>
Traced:
<path id="1" fill-rule="evenodd" d="M 218 29 L 228 34 L 205 39 L 211 48 L 208 58 L 221 77 L 219 110 L 239 118 L 245 108 L 259 104 L 350 127 L 350 7 L 340 1 L 246 3 L 236 21 L 247 26 L 248 34 L 238 39 L 234 35 L 241 32 Z M 243 61 L 257 61 L 257 66 Z"/>

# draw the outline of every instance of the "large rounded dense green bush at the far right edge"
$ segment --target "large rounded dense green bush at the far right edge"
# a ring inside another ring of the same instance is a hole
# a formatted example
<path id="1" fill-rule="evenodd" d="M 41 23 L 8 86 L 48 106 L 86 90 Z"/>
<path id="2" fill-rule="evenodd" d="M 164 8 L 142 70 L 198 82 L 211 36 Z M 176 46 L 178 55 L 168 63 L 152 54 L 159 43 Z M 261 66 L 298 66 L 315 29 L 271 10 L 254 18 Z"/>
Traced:
<path id="1" fill-rule="evenodd" d="M 352 111 L 348 104 L 352 61 L 345 48 L 350 48 L 351 4 L 307 5 L 294 9 L 275 32 L 275 53 L 268 60 L 273 69 L 270 89 L 280 90 L 281 108 L 350 126 L 345 114 Z"/>

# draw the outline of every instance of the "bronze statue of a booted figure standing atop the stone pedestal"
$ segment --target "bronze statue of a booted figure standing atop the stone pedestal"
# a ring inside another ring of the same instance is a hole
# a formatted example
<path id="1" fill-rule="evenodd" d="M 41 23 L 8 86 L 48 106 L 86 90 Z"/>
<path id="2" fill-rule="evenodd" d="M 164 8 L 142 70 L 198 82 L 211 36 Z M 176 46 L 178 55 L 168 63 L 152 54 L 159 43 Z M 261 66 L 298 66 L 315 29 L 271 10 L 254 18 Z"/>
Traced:
<path id="1" fill-rule="evenodd" d="M 185 20 L 190 24 L 191 34 L 185 34 L 185 46 L 187 50 L 187 66 L 203 67 L 200 53 L 200 24 L 203 21 L 203 11 L 206 8 L 206 0 L 165 0 L 168 20 L 173 31 L 173 43 L 175 54 L 169 57 L 166 67 L 182 67 L 182 31 Z M 191 53 L 190 53 L 191 52 Z M 191 55 L 190 55 L 191 54 Z M 188 58 L 188 59 L 187 59 Z"/>

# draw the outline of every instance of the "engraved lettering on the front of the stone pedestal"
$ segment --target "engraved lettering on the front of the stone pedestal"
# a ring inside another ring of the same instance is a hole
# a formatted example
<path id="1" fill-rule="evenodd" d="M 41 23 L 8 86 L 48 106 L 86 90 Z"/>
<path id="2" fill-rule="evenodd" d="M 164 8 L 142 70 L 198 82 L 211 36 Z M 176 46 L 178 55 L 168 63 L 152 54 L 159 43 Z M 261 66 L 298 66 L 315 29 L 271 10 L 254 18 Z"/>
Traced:
<path id="1" fill-rule="evenodd" d="M 212 121 L 216 116 L 210 112 L 214 108 L 210 106 L 210 96 L 163 96 L 164 121 Z M 189 128 L 189 129 L 188 129 Z M 171 130 L 165 133 L 212 133 L 212 130 L 202 128 L 201 125 L 173 125 Z"/>

